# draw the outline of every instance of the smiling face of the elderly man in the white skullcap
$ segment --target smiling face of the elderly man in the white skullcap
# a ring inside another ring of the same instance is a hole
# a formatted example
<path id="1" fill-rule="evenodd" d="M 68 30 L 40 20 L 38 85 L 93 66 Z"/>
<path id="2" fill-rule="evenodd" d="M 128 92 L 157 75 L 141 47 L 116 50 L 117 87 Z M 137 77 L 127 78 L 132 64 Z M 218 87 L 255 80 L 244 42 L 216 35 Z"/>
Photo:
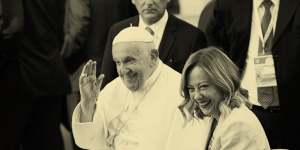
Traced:
<path id="1" fill-rule="evenodd" d="M 123 83 L 131 91 L 139 90 L 151 74 L 149 51 L 142 44 L 123 42 L 113 45 L 112 54 Z"/>

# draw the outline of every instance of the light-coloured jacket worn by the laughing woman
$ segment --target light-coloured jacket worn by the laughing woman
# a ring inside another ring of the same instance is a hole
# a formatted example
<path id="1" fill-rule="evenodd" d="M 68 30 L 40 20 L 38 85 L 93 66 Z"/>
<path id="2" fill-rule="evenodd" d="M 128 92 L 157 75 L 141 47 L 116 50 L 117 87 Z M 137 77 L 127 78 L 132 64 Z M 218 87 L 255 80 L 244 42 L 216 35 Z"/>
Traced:
<path id="1" fill-rule="evenodd" d="M 220 118 L 209 150 L 271 150 L 262 125 L 246 106 Z"/>

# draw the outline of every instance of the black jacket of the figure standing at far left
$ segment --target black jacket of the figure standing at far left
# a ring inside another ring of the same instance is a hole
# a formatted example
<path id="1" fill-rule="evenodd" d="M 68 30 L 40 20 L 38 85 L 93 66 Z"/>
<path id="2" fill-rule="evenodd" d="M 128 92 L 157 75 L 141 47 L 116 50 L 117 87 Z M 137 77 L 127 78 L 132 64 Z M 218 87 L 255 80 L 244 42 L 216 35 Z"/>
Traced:
<path id="1" fill-rule="evenodd" d="M 64 0 L 23 0 L 24 29 L 18 62 L 22 78 L 36 96 L 61 95 L 70 83 L 60 55 Z"/>

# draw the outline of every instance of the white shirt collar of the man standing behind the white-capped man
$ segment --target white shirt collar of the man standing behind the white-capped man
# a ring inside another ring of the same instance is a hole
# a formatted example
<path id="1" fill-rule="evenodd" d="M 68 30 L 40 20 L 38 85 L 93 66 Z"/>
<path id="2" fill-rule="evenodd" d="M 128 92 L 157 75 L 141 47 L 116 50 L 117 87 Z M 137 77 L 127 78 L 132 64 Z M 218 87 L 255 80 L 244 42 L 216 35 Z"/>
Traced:
<path id="1" fill-rule="evenodd" d="M 150 27 L 154 31 L 154 33 L 159 33 L 160 30 L 164 29 L 164 27 L 166 26 L 168 18 L 169 18 L 169 13 L 167 10 L 165 10 L 163 17 L 160 18 L 154 24 L 149 26 L 143 21 L 142 16 L 139 15 L 139 27 L 141 28 Z"/>

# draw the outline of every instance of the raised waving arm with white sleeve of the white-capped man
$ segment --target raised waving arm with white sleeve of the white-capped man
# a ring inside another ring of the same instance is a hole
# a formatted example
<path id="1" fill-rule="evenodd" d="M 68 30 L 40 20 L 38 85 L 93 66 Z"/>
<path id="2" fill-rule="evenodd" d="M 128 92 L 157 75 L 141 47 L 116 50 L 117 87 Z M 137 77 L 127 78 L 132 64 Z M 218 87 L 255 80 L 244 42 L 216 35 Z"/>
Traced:
<path id="1" fill-rule="evenodd" d="M 107 148 L 103 105 L 97 100 L 103 78 L 96 77 L 96 62 L 90 60 L 79 79 L 81 100 L 73 112 L 72 129 L 75 143 L 84 149 Z"/>

